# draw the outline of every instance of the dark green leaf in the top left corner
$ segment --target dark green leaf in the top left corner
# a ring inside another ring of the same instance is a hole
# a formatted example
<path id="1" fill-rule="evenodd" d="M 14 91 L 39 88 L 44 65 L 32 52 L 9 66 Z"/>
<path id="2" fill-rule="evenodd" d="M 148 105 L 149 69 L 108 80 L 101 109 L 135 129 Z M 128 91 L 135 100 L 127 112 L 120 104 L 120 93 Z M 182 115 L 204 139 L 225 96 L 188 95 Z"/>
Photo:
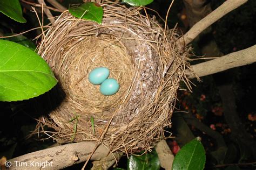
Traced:
<path id="1" fill-rule="evenodd" d="M 22 16 L 21 4 L 18 0 L 1 0 L 0 12 L 4 15 L 16 20 L 19 23 L 25 23 L 26 19 Z"/>

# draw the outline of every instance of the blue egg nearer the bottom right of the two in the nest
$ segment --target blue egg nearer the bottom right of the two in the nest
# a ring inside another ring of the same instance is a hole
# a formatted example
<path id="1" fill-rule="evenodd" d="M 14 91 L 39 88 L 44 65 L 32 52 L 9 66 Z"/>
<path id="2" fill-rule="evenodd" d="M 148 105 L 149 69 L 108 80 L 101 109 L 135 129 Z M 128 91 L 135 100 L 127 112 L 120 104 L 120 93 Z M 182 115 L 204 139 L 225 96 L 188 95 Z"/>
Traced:
<path id="1" fill-rule="evenodd" d="M 113 94 L 116 94 L 119 90 L 119 84 L 116 81 L 116 79 L 106 79 L 101 85 L 100 85 L 100 93 L 102 93 L 105 96 L 110 96 Z"/>

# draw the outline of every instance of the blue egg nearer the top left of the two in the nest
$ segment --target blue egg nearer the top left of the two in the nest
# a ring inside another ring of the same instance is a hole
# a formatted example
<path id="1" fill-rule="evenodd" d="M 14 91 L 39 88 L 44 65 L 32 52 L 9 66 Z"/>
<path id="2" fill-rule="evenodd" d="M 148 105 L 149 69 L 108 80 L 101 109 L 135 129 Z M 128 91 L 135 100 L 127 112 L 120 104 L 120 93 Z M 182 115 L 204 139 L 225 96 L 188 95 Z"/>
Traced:
<path id="1" fill-rule="evenodd" d="M 90 72 L 89 81 L 92 84 L 98 85 L 104 82 L 107 77 L 109 77 L 109 69 L 106 67 L 98 67 Z"/>

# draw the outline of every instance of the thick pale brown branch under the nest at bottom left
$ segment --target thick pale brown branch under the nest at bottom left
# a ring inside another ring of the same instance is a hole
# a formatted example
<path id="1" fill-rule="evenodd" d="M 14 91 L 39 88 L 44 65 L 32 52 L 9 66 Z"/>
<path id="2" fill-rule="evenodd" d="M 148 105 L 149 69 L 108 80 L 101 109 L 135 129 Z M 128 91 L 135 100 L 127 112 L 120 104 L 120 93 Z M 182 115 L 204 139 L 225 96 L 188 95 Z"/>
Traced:
<path id="1" fill-rule="evenodd" d="M 87 141 L 28 153 L 9 160 L 12 164 L 10 169 L 40 169 L 43 168 L 44 165 L 46 169 L 62 169 L 69 167 L 86 161 L 96 144 L 95 142 Z M 107 157 L 107 155 L 109 156 Z M 100 145 L 95 153 L 93 153 L 91 160 L 101 160 L 111 156 L 113 157 L 113 155 L 109 153 L 109 150 L 105 146 Z M 19 164 L 21 162 L 23 163 Z M 38 163 L 36 164 L 36 162 Z"/>

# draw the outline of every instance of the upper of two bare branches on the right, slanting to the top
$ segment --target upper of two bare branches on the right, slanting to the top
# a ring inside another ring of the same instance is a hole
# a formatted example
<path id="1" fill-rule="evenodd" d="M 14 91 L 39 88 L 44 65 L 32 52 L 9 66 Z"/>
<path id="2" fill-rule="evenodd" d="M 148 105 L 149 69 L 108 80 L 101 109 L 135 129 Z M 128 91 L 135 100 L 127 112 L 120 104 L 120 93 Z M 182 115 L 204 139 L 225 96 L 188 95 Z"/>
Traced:
<path id="1" fill-rule="evenodd" d="M 215 23 L 221 17 L 225 16 L 228 12 L 238 8 L 242 4 L 246 3 L 248 0 L 227 0 L 217 9 L 212 11 L 205 18 L 201 19 L 194 26 L 178 40 L 180 45 L 189 44 L 193 39 L 195 39 L 201 32 L 203 32 L 208 26 Z"/>

